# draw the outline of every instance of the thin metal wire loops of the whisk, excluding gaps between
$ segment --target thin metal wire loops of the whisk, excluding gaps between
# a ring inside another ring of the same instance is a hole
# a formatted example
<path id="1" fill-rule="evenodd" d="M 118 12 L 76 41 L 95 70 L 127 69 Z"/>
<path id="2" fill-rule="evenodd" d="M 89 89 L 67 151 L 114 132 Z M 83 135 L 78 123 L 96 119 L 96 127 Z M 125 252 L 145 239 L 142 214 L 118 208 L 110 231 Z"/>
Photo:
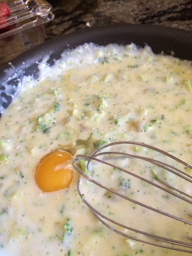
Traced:
<path id="1" fill-rule="evenodd" d="M 176 198 L 179 198 L 181 200 L 184 200 L 187 204 L 192 204 L 192 196 L 187 194 L 187 193 L 184 193 L 184 191 L 181 191 L 180 189 L 177 189 L 171 185 L 169 185 L 168 183 L 164 182 L 164 181 L 161 181 L 160 179 L 155 179 L 154 180 L 156 182 L 153 182 L 152 180 L 150 179 L 146 179 L 132 171 L 129 171 L 125 168 L 122 168 L 120 166 L 117 166 L 116 164 L 114 163 L 111 163 L 110 160 L 118 160 L 118 159 L 126 159 L 126 158 L 136 158 L 136 159 L 140 159 L 140 160 L 144 160 L 144 161 L 147 161 L 149 163 L 152 163 L 160 168 L 163 168 L 163 169 L 166 169 L 168 172 L 171 172 L 173 173 L 174 175 L 177 175 L 179 176 L 180 178 L 188 181 L 189 183 L 192 183 L 192 176 L 189 175 L 188 173 L 185 173 L 181 170 L 179 170 L 178 168 L 170 165 L 170 164 L 167 164 L 167 163 L 164 163 L 164 162 L 161 162 L 159 160 L 156 160 L 156 159 L 153 159 L 153 158 L 150 158 L 150 157 L 145 157 L 145 156 L 140 156 L 140 155 L 136 155 L 136 154 L 131 154 L 131 153 L 127 153 L 127 152 L 118 152 L 118 151 L 106 151 L 106 152 L 103 152 L 103 150 L 105 148 L 109 148 L 111 146 L 116 146 L 116 145 L 121 145 L 121 144 L 134 144 L 134 145 L 139 145 L 139 146 L 142 146 L 142 147 L 147 147 L 149 149 L 152 149 L 153 151 L 156 151 L 156 152 L 159 152 L 160 154 L 163 154 L 169 158 L 172 158 L 173 160 L 181 163 L 182 165 L 184 165 L 185 167 L 189 168 L 189 169 L 192 169 L 192 167 L 183 162 L 182 160 L 178 159 L 177 157 L 174 157 L 172 155 L 170 155 L 169 153 L 167 152 L 164 152 L 156 147 L 152 147 L 150 145 L 147 145 L 147 144 L 143 144 L 143 143 L 139 143 L 139 142 L 134 142 L 134 141 L 119 141 L 119 142 L 112 142 L 112 143 L 109 143 L 101 148 L 99 148 L 98 150 L 96 150 L 95 152 L 93 152 L 90 156 L 88 155 L 77 155 L 76 159 L 73 161 L 73 166 L 74 168 L 85 178 L 85 180 L 88 180 L 89 182 L 92 182 L 94 184 L 96 184 L 97 186 L 101 187 L 102 189 L 105 189 L 106 191 L 112 193 L 112 194 L 115 194 L 117 196 L 119 196 L 120 198 L 123 198 L 125 200 L 128 200 L 134 204 L 137 204 L 137 205 L 140 205 L 141 207 L 145 207 L 149 210 L 152 210 L 158 214 L 161 214 L 163 216 L 167 216 L 168 218 L 172 218 L 174 220 L 177 220 L 177 221 L 180 221 L 180 222 L 183 222 L 185 224 L 188 224 L 188 225 L 192 225 L 192 222 L 189 221 L 189 220 L 185 220 L 184 218 L 182 217 L 178 217 L 178 216 L 174 216 L 173 214 L 169 214 L 168 212 L 165 212 L 165 211 L 162 211 L 162 210 L 159 210 L 157 208 L 154 208 L 150 205 L 146 205 L 145 203 L 142 203 L 138 200 L 135 200 L 131 197 L 128 197 L 126 195 L 123 195 L 121 193 L 119 193 L 118 191 L 116 191 L 115 189 L 111 189 L 107 186 L 105 186 L 104 184 L 101 184 L 99 181 L 95 180 L 92 175 L 91 175 L 91 172 L 90 172 L 90 169 L 91 167 L 93 166 L 93 162 L 94 163 L 102 163 L 102 164 L 105 164 L 107 166 L 110 166 L 112 168 L 115 168 L 115 169 L 118 169 L 120 171 L 123 171 L 124 173 L 127 173 L 129 175 L 132 175 L 134 177 L 136 177 L 137 179 L 140 179 L 141 181 L 144 181 L 144 182 L 147 182 L 148 184 L 152 185 L 152 186 L 155 186 L 157 187 L 158 189 L 161 189 L 171 195 L 173 195 L 174 197 Z M 102 159 L 100 159 L 99 157 L 102 157 Z M 83 159 L 85 161 L 87 161 L 87 172 L 85 171 L 82 171 L 80 166 L 79 166 L 79 160 L 80 159 Z M 176 240 L 176 239 L 171 239 L 171 238 L 168 238 L 168 237 L 163 237 L 163 236 L 159 236 L 159 235 L 156 235 L 154 233 L 149 233 L 149 232 L 145 232 L 143 230 L 138 230 L 136 228 L 133 228 L 131 226 L 127 226 L 127 225 L 124 225 L 123 223 L 120 223 L 119 221 L 115 221 L 115 219 L 111 219 L 110 217 L 106 216 L 105 214 L 103 214 L 102 212 L 98 211 L 92 204 L 90 204 L 86 199 L 85 199 L 85 195 L 83 193 L 81 193 L 81 189 L 80 189 L 80 185 L 81 183 L 83 182 L 82 180 L 82 176 L 80 176 L 79 180 L 78 180 L 78 184 L 77 184 L 77 190 L 78 190 L 78 193 L 79 195 L 81 196 L 82 198 L 82 201 L 88 205 L 88 207 L 90 208 L 90 210 L 92 211 L 92 213 L 94 214 L 94 216 L 100 221 L 102 222 L 106 227 L 108 227 L 110 230 L 113 230 L 115 231 L 116 233 L 124 236 L 124 237 L 127 237 L 129 239 L 133 239 L 135 241 L 139 241 L 139 242 L 142 242 L 142 243 L 147 243 L 147 244 L 150 244 L 150 245 L 154 245 L 154 246 L 158 246 L 158 247 L 162 247 L 162 248 L 168 248 L 168 249 L 173 249 L 173 250 L 176 250 L 176 251 L 181 251 L 181 252 L 186 252 L 186 253 L 192 253 L 192 243 L 188 243 L 186 241 L 179 241 L 179 240 Z M 175 192 L 174 192 L 174 191 Z M 110 223 L 113 223 L 115 226 L 111 226 Z M 132 236 L 130 234 L 127 234 L 126 232 L 122 232 L 120 231 L 120 229 L 117 229 L 116 227 L 122 227 L 122 228 L 125 228 L 126 230 L 130 230 L 132 232 L 135 232 L 135 233 L 140 233 L 142 235 L 144 235 L 144 237 L 151 237 L 154 241 L 150 241 L 150 240 L 144 240 L 143 238 L 140 238 L 140 237 L 136 237 L 136 236 Z M 161 242 L 161 243 L 160 243 Z"/>

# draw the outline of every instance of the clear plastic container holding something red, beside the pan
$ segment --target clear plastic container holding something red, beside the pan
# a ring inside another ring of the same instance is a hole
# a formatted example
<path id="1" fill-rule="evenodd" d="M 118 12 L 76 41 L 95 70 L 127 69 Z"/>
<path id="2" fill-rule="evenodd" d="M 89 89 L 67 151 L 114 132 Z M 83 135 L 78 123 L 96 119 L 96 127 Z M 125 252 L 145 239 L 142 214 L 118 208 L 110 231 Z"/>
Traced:
<path id="1" fill-rule="evenodd" d="M 51 8 L 44 0 L 0 0 L 0 64 L 45 40 Z"/>

